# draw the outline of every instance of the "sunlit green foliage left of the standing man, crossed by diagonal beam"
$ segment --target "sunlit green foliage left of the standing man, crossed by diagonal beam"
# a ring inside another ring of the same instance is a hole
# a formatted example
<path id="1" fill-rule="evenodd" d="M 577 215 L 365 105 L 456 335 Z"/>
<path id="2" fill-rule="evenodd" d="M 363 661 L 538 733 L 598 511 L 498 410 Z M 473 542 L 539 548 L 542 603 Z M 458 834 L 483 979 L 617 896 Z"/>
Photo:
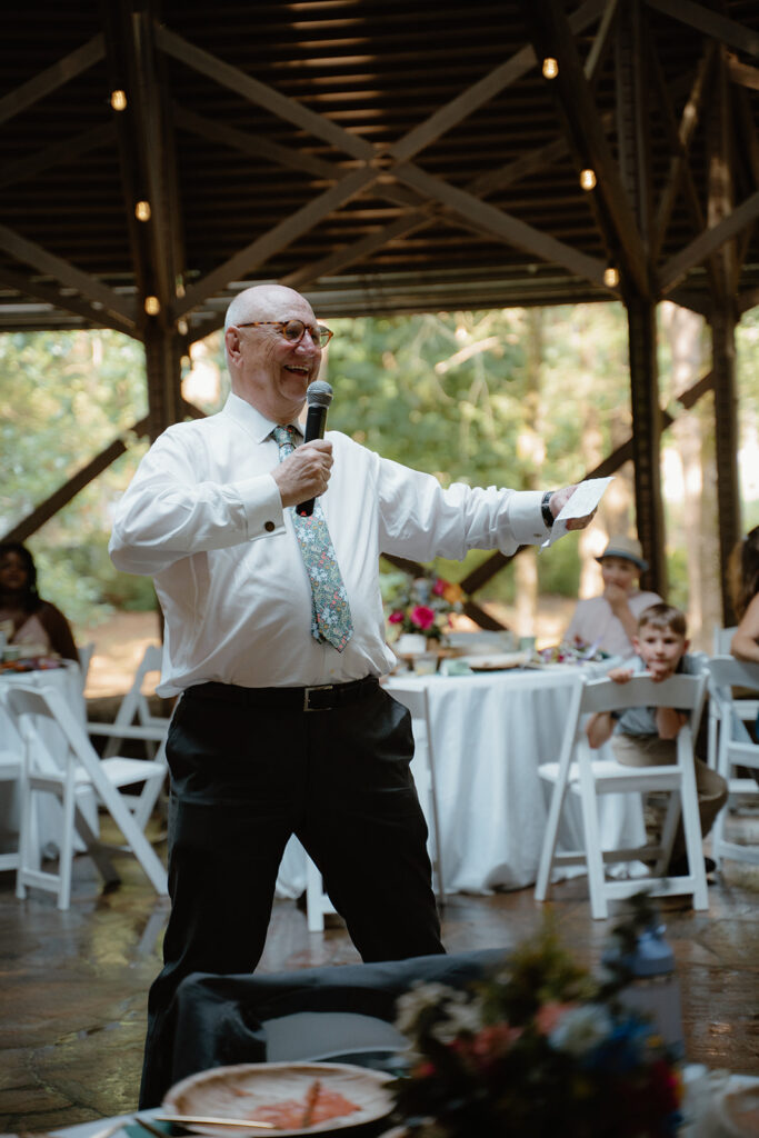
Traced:
<path id="1" fill-rule="evenodd" d="M 32 510 L 147 411 L 142 346 L 108 330 L 0 336 L 0 533 Z M 108 468 L 28 539 L 40 592 L 72 622 L 110 611 L 109 509 L 143 445 Z M 133 592 L 129 578 L 127 593 Z M 143 594 L 152 586 L 139 586 Z M 121 600 L 121 597 L 117 597 Z"/>

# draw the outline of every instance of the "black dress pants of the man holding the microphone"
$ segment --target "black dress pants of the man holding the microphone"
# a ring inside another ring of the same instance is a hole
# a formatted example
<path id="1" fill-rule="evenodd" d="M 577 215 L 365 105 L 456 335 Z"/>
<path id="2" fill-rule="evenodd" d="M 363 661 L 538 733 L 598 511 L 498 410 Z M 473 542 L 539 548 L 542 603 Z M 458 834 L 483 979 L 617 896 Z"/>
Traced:
<path id="1" fill-rule="evenodd" d="M 141 1107 L 167 1089 L 166 1012 L 181 980 L 256 967 L 291 834 L 364 962 L 445 951 L 405 708 L 373 684 L 330 710 L 249 694 L 255 707 L 244 688 L 190 688 L 170 728 L 172 910 L 148 1001 Z"/>

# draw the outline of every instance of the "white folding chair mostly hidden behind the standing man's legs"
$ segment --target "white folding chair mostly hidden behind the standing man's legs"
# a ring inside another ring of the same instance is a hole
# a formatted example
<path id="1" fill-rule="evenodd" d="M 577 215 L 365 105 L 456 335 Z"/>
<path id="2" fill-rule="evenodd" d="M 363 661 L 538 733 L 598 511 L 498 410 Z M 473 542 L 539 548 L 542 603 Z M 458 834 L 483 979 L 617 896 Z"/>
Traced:
<path id="1" fill-rule="evenodd" d="M 432 751 L 432 732 L 430 729 L 429 700 L 427 688 L 396 687 L 390 694 L 398 703 L 403 703 L 411 714 L 411 726 L 414 733 L 414 757 L 411 773 L 420 797 L 422 810 L 427 819 L 430 840 L 430 859 L 432 861 L 434 884 L 438 905 L 445 905 L 445 883 L 443 877 L 443 855 L 440 823 L 438 818 L 437 790 L 435 785 L 435 756 Z M 306 857 L 306 920 L 310 932 L 321 932 L 324 927 L 324 915 L 335 913 L 335 907 L 324 892 L 322 875 Z"/>

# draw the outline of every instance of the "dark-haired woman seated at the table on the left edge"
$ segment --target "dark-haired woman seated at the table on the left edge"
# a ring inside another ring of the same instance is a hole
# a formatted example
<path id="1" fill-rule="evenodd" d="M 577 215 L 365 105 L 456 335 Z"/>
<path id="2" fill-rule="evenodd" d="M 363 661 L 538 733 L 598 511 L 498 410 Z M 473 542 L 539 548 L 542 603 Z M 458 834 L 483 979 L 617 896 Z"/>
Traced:
<path id="1" fill-rule="evenodd" d="M 0 625 L 10 625 L 9 644 L 34 644 L 46 653 L 79 662 L 71 626 L 60 609 L 36 591 L 34 558 L 19 542 L 0 544 Z"/>

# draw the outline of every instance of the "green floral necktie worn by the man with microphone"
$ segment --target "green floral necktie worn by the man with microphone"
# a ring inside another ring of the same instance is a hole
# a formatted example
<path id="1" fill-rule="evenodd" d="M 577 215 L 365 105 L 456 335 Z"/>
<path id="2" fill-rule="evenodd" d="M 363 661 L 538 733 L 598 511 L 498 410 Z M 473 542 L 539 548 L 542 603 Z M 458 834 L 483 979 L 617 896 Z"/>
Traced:
<path id="1" fill-rule="evenodd" d="M 272 435 L 281 462 L 295 451 L 298 434 L 295 427 L 275 427 Z M 292 506 L 289 509 L 311 582 L 311 635 L 341 652 L 353 634 L 353 619 L 321 503 L 319 498 L 314 501 L 310 518 L 303 518 Z"/>

